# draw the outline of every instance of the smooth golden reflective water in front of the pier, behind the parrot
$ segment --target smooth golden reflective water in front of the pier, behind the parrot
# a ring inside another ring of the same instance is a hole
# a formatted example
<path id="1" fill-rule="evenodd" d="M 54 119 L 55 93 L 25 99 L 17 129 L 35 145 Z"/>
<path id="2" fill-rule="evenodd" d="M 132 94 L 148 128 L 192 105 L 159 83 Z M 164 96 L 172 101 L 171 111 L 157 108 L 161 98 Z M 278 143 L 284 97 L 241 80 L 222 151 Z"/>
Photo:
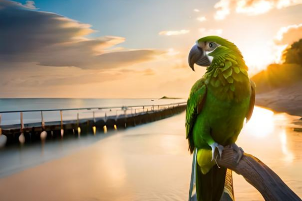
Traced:
<path id="1" fill-rule="evenodd" d="M 302 134 L 297 117 L 255 108 L 237 144 L 302 197 Z M 4 200 L 187 200 L 192 156 L 185 113 L 81 139 L 0 152 Z M 234 174 L 236 200 L 263 200 Z M 18 193 L 13 193 L 15 190 Z"/>

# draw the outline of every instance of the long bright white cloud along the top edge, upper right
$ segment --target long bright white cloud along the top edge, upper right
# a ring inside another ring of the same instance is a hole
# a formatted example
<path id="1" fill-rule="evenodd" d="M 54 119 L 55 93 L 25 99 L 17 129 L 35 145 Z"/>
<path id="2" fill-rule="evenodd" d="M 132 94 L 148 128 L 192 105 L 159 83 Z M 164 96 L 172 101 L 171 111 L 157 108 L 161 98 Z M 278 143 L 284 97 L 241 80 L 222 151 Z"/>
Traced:
<path id="1" fill-rule="evenodd" d="M 214 19 L 223 20 L 231 10 L 247 15 L 259 15 L 272 9 L 283 9 L 302 4 L 302 0 L 220 0 L 214 5 L 217 10 Z"/>

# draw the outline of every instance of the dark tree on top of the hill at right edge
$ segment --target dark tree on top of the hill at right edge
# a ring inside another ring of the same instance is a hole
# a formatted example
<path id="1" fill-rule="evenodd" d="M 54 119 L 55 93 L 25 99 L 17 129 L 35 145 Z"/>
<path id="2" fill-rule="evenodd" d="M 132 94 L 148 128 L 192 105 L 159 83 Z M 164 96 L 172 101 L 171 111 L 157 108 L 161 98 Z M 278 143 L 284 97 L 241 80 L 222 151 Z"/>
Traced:
<path id="1" fill-rule="evenodd" d="M 282 58 L 284 63 L 295 63 L 302 66 L 302 39 L 284 50 Z"/>

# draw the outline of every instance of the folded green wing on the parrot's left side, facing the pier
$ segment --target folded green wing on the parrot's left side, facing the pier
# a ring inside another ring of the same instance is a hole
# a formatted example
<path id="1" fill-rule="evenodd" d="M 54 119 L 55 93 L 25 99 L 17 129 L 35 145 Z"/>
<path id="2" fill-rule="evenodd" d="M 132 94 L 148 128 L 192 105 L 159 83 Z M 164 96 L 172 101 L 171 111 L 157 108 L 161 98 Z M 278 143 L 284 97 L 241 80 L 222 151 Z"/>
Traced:
<path id="1" fill-rule="evenodd" d="M 189 150 L 191 153 L 194 151 L 194 142 L 192 136 L 192 129 L 197 118 L 197 115 L 202 110 L 205 96 L 206 96 L 206 84 L 204 79 L 199 79 L 192 87 L 189 99 L 187 102 L 186 110 L 186 139 L 189 139 Z"/>

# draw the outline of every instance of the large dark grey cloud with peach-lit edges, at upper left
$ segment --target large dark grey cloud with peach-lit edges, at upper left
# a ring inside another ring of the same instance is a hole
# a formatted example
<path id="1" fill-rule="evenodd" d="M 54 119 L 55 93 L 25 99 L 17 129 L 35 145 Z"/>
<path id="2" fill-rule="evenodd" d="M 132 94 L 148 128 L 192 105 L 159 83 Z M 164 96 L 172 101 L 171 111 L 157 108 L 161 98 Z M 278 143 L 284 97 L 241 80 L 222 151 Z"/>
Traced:
<path id="1" fill-rule="evenodd" d="M 2 0 L 0 8 L 1 62 L 105 69 L 153 60 L 163 53 L 158 50 L 115 48 L 115 45 L 125 41 L 123 37 L 87 38 L 87 35 L 96 32 L 91 25 L 33 10 L 32 1 L 22 5 Z"/>

